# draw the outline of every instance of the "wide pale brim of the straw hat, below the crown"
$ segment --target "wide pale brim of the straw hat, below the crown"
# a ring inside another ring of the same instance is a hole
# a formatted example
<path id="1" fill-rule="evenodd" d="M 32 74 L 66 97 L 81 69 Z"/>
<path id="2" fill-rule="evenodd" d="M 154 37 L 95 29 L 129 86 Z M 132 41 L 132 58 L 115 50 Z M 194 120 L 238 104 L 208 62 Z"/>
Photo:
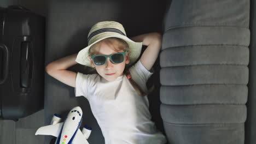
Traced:
<path id="1" fill-rule="evenodd" d="M 123 40 L 126 41 L 126 43 L 129 45 L 129 49 L 130 49 L 130 54 L 129 54 L 130 64 L 133 64 L 137 60 L 139 55 L 141 55 L 142 42 L 132 41 L 131 39 L 127 38 L 126 36 L 120 35 L 120 34 L 110 35 L 110 36 L 107 36 L 107 37 L 100 38 L 100 39 L 96 40 L 94 43 L 86 46 L 84 49 L 82 49 L 78 52 L 78 55 L 77 55 L 77 58 L 75 59 L 75 61 L 79 64 L 86 65 L 88 67 L 92 67 L 91 62 L 90 62 L 90 58 L 89 58 L 89 55 L 88 55 L 88 51 L 89 51 L 90 47 L 92 45 L 94 45 L 95 43 L 97 43 L 98 41 L 100 41 L 100 40 L 103 40 L 103 39 L 106 39 L 106 38 L 112 38 L 112 37 L 120 38 L 120 39 L 123 39 Z"/>

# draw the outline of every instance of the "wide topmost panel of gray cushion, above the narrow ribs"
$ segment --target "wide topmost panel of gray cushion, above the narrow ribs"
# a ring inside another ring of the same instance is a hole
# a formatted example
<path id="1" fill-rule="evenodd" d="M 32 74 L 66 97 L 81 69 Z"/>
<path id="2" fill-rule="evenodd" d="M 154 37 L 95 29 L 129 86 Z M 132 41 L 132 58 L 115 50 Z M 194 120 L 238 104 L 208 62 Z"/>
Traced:
<path id="1" fill-rule="evenodd" d="M 165 30 L 178 27 L 249 27 L 248 0 L 173 0 L 167 9 Z M 171 19 L 170 19 L 171 18 Z"/>

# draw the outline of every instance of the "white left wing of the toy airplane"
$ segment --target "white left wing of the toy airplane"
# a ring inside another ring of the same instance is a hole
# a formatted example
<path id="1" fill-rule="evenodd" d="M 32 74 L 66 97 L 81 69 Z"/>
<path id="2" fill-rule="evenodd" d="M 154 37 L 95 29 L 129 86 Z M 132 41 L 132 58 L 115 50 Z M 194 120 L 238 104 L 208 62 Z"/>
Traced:
<path id="1" fill-rule="evenodd" d="M 63 123 L 57 123 L 53 125 L 47 125 L 45 127 L 40 127 L 36 135 L 52 135 L 58 137 L 61 131 Z"/>

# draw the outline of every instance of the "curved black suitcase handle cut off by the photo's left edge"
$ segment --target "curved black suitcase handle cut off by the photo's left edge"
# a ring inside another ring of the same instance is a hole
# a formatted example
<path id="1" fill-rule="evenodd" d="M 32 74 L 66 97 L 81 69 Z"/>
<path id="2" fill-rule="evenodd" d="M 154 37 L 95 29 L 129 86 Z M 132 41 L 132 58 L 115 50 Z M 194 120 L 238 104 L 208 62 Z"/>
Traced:
<path id="1" fill-rule="evenodd" d="M 9 71 L 9 51 L 7 46 L 0 44 L 0 85 L 7 80 Z"/>

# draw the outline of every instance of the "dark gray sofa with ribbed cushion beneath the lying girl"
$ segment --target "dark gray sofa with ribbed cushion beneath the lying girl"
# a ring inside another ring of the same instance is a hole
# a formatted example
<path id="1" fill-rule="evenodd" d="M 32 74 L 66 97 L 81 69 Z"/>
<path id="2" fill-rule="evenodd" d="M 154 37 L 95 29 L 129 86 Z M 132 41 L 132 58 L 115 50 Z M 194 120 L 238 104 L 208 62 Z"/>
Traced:
<path id="1" fill-rule="evenodd" d="M 156 89 L 148 99 L 152 120 L 168 142 L 255 143 L 252 81 L 252 88 L 247 87 L 249 70 L 254 70 L 253 57 L 248 69 L 248 46 L 254 38 L 249 9 L 249 0 L 49 1 L 45 65 L 83 49 L 90 27 L 98 21 L 122 23 L 129 37 L 160 32 L 162 50 L 148 81 Z M 85 74 L 88 69 L 70 68 Z M 45 124 L 53 113 L 66 116 L 78 105 L 84 113 L 82 126 L 92 127 L 88 141 L 104 143 L 88 101 L 75 98 L 74 88 L 45 75 Z M 45 143 L 51 139 L 45 136 Z"/>

